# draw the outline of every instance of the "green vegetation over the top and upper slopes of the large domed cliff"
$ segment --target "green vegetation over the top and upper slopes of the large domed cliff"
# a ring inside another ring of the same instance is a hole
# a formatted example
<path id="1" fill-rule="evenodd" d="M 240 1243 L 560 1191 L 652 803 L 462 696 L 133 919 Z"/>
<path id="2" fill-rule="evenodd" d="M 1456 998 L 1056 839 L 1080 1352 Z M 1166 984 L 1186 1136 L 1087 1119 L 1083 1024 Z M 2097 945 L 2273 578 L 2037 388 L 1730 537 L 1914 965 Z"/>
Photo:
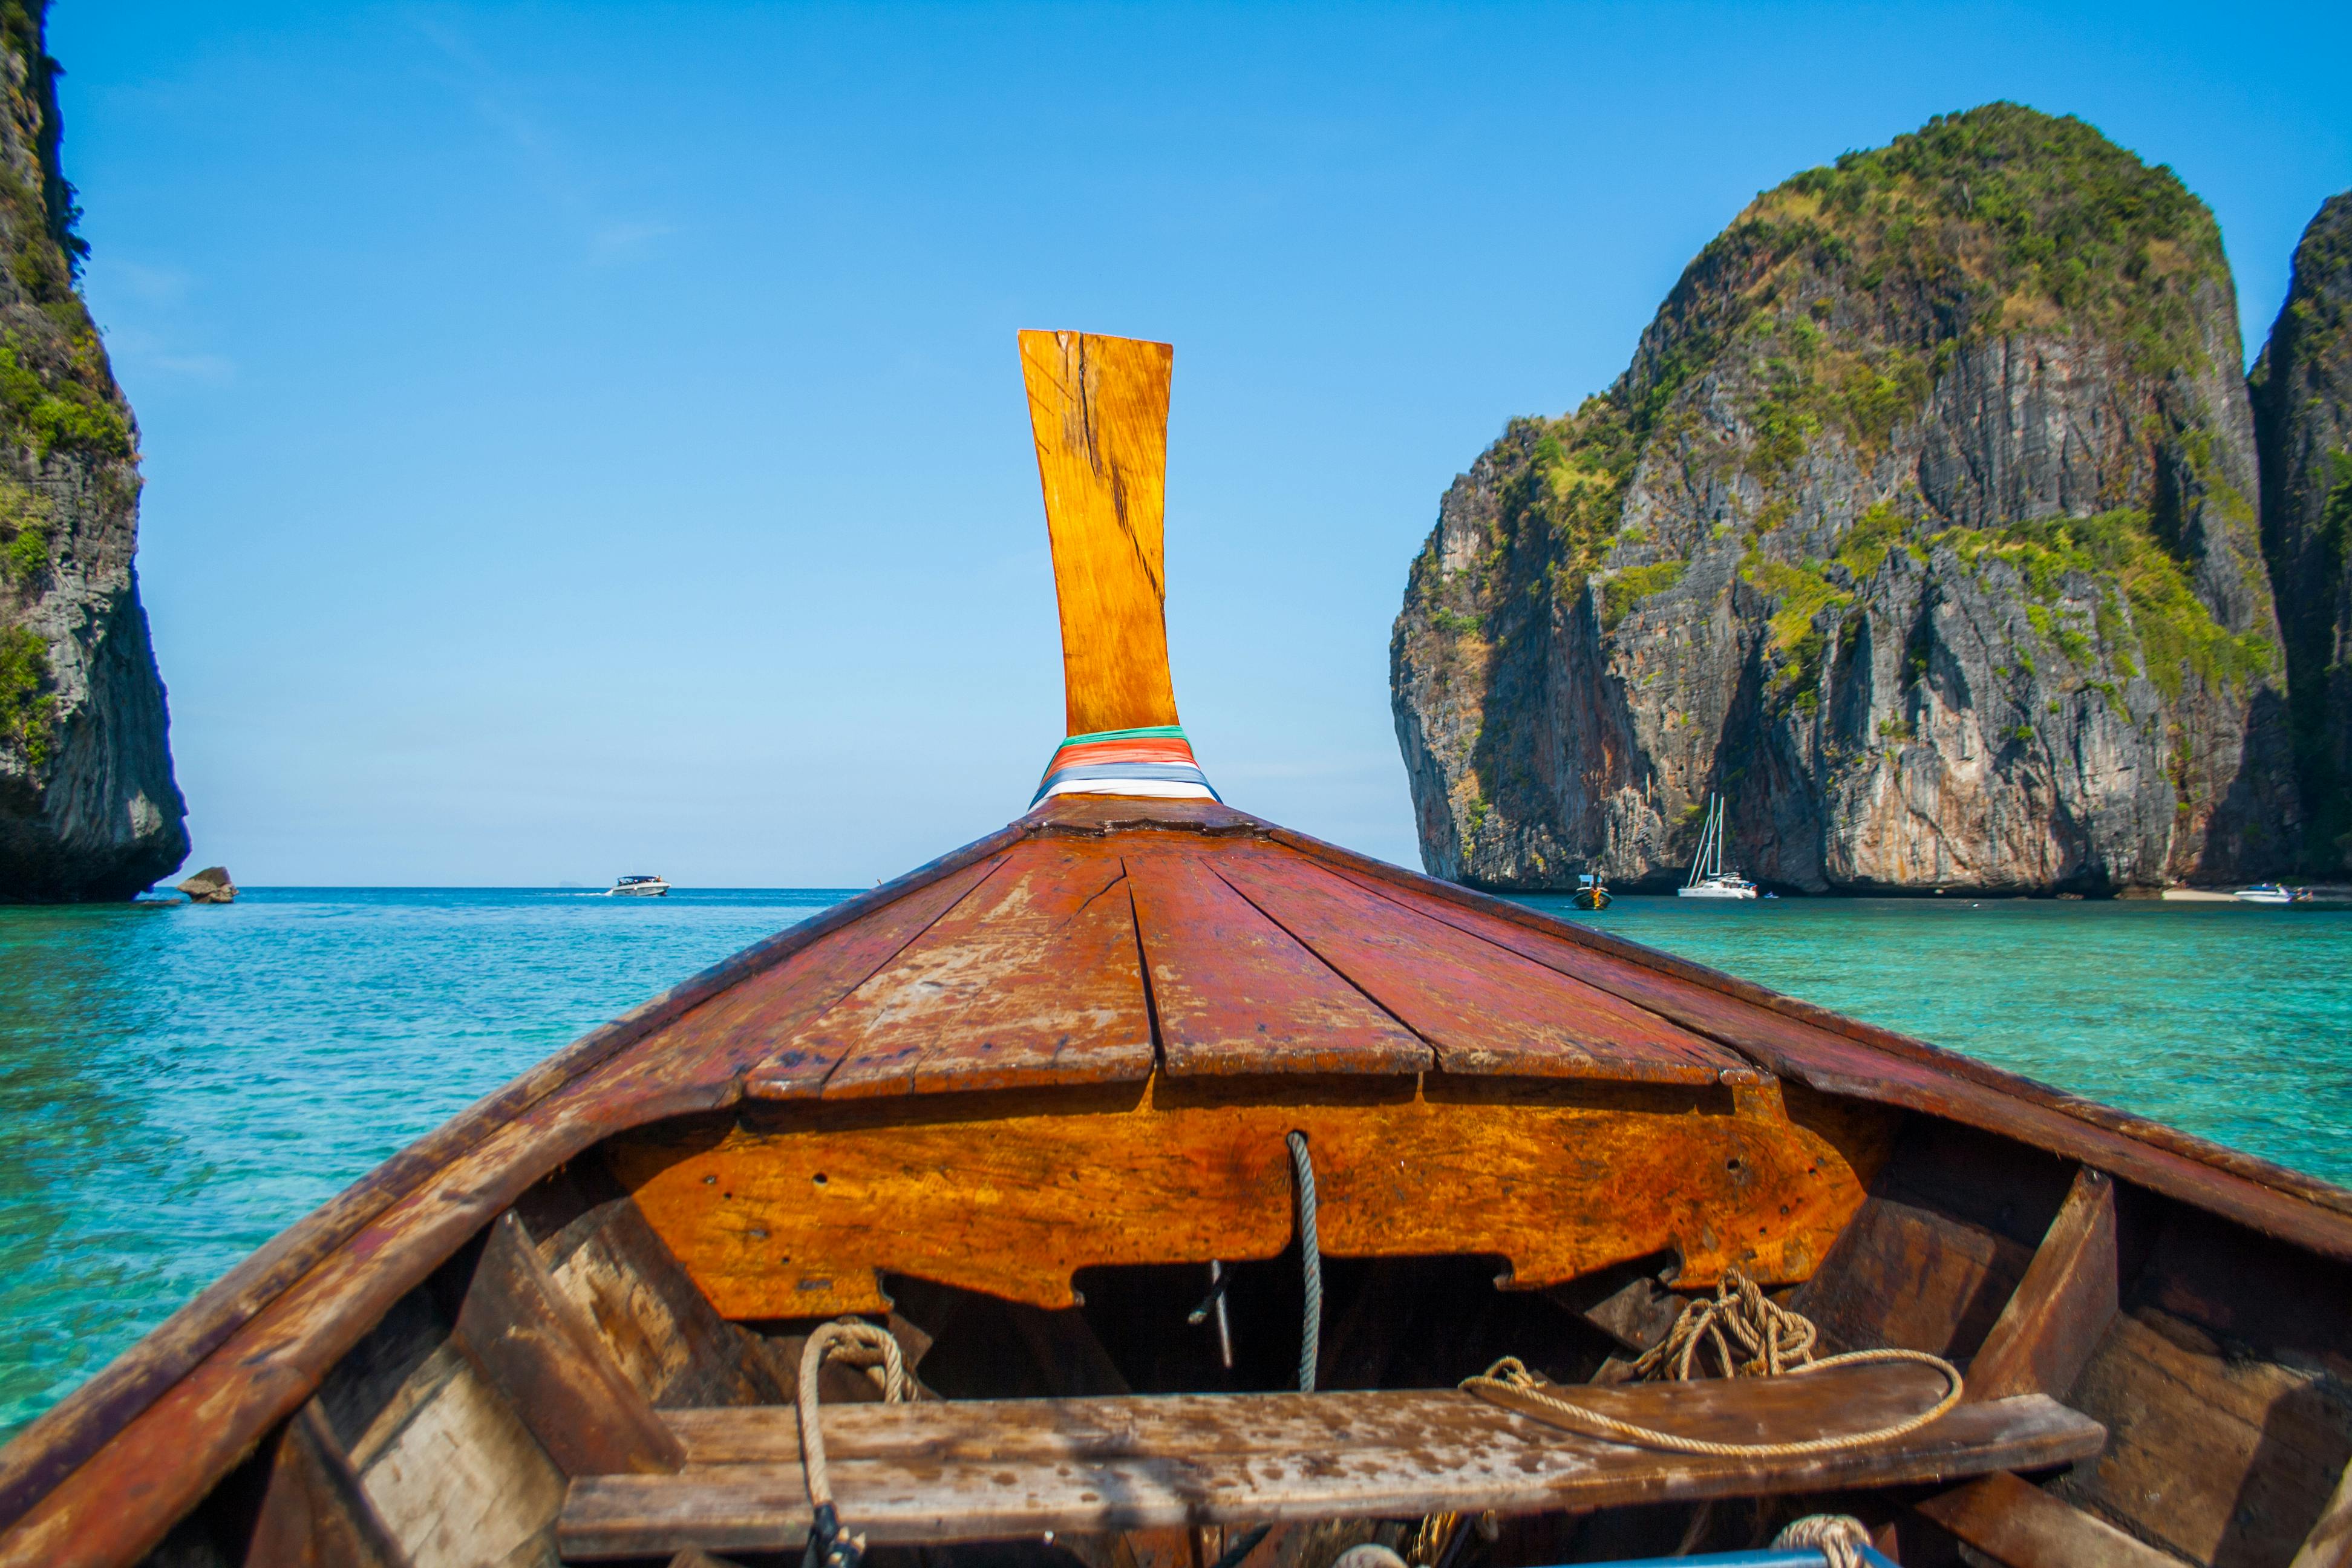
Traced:
<path id="1" fill-rule="evenodd" d="M 1696 411 L 1675 395 L 1691 376 L 1729 371 L 1745 388 L 1743 465 L 1771 487 L 1828 435 L 1865 461 L 1884 451 L 1969 343 L 2056 331 L 2122 346 L 2145 376 L 2192 364 L 2201 284 L 2230 287 L 2220 230 L 2171 169 L 2016 103 L 1938 115 L 1759 195 L 1691 263 L 1613 388 L 1564 418 L 1524 421 L 1536 440 L 1503 475 L 1505 531 L 1548 536 L 1552 599 L 1566 604 L 1613 545 L 1642 543 L 1621 534 L 1625 484 L 1651 442 L 1689 435 Z M 2223 505 L 2246 505 L 2199 451 L 2187 456 Z M 1752 534 L 1788 512 L 1762 508 Z M 1870 517 L 1867 541 L 1839 548 L 1856 578 L 1907 543 L 1900 515 Z M 1663 567 L 1606 581 L 1606 630 L 1679 578 Z M 1790 562 L 1748 574 L 1788 595 L 1773 646 L 1799 663 L 1813 661 L 1790 628 L 1837 592 L 1811 576 Z"/>

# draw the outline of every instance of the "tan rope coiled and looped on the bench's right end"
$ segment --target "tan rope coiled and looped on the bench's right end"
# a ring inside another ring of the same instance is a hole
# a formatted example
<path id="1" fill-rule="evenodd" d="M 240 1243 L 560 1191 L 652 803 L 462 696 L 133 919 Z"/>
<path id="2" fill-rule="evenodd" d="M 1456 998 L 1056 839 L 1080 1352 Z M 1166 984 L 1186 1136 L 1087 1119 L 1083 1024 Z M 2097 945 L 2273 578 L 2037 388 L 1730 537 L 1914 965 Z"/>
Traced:
<path id="1" fill-rule="evenodd" d="M 1724 1269 L 1722 1284 L 1715 1286 L 1715 1300 L 1696 1300 L 1684 1307 L 1665 1340 L 1644 1352 L 1632 1366 L 1637 1378 L 1670 1378 L 1689 1382 L 1698 1363 L 1698 1349 L 1703 1345 L 1712 1345 L 1722 1361 L 1724 1378 L 1802 1378 L 1832 1366 L 1924 1361 L 1943 1373 L 1950 1387 L 1943 1399 L 1933 1403 L 1933 1408 L 1907 1420 L 1898 1420 L 1872 1432 L 1816 1436 L 1802 1443 L 1712 1443 L 1698 1436 L 1677 1436 L 1653 1427 L 1637 1427 L 1635 1422 L 1602 1415 L 1599 1410 L 1550 1394 L 1548 1389 L 1557 1385 L 1550 1385 L 1526 1371 L 1517 1356 L 1503 1356 L 1489 1366 L 1484 1375 L 1465 1378 L 1461 1387 L 1477 1394 L 1486 1403 L 1503 1406 L 1505 1410 L 1522 1410 L 1524 1415 L 1550 1420 L 1557 1427 L 1569 1427 L 1571 1432 L 1583 1432 L 1585 1436 L 1618 1439 L 1642 1443 L 1646 1448 L 1670 1448 L 1675 1453 L 1712 1453 L 1729 1460 L 1783 1460 L 1806 1453 L 1844 1453 L 1849 1448 L 1884 1443 L 1926 1427 L 1957 1406 L 1962 1392 L 1966 1389 L 1957 1366 L 1943 1356 L 1931 1356 L 1924 1349 L 1849 1349 L 1842 1356 L 1816 1359 L 1813 1345 L 1818 1338 L 1820 1335 L 1813 1328 L 1813 1321 L 1802 1312 L 1780 1307 L 1764 1295 L 1764 1288 L 1757 1286 L 1757 1281 L 1748 1279 L 1738 1269 Z M 1738 1356 L 1733 1356 L 1733 1345 L 1738 1345 Z M 1508 1399 L 1498 1399 L 1496 1394 L 1508 1394 Z M 1524 1410 L 1524 1406 L 1536 1406 L 1536 1410 Z"/>

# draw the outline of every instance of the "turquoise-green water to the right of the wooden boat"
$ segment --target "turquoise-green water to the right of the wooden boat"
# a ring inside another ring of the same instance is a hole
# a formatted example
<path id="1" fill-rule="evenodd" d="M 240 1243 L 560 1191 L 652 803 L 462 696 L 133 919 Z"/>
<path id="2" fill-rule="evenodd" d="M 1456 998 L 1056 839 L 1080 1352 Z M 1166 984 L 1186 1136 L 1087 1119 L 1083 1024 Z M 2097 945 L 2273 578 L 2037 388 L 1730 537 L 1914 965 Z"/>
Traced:
<path id="1" fill-rule="evenodd" d="M 2352 905 L 1519 903 L 2352 1182 Z"/>

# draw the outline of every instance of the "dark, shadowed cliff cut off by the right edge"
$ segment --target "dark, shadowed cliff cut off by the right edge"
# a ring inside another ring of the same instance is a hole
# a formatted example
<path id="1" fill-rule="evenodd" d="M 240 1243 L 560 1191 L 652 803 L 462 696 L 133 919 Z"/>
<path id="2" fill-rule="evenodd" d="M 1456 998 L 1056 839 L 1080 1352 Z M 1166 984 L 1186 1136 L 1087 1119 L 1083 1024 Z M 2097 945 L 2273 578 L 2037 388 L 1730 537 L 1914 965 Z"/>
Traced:
<path id="1" fill-rule="evenodd" d="M 2343 872 L 2352 867 L 2352 190 L 2328 197 L 2303 230 L 2251 390 L 2303 842 L 2314 872 Z"/>

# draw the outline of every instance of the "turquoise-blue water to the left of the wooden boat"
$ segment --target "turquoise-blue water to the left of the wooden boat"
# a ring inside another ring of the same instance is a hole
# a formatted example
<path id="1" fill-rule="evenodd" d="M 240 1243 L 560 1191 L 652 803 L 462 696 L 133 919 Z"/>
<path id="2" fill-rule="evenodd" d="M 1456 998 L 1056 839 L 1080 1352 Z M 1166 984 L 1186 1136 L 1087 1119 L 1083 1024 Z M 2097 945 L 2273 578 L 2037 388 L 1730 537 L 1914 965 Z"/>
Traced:
<path id="1" fill-rule="evenodd" d="M 847 896 L 0 907 L 0 1436 L 393 1150 Z"/>

